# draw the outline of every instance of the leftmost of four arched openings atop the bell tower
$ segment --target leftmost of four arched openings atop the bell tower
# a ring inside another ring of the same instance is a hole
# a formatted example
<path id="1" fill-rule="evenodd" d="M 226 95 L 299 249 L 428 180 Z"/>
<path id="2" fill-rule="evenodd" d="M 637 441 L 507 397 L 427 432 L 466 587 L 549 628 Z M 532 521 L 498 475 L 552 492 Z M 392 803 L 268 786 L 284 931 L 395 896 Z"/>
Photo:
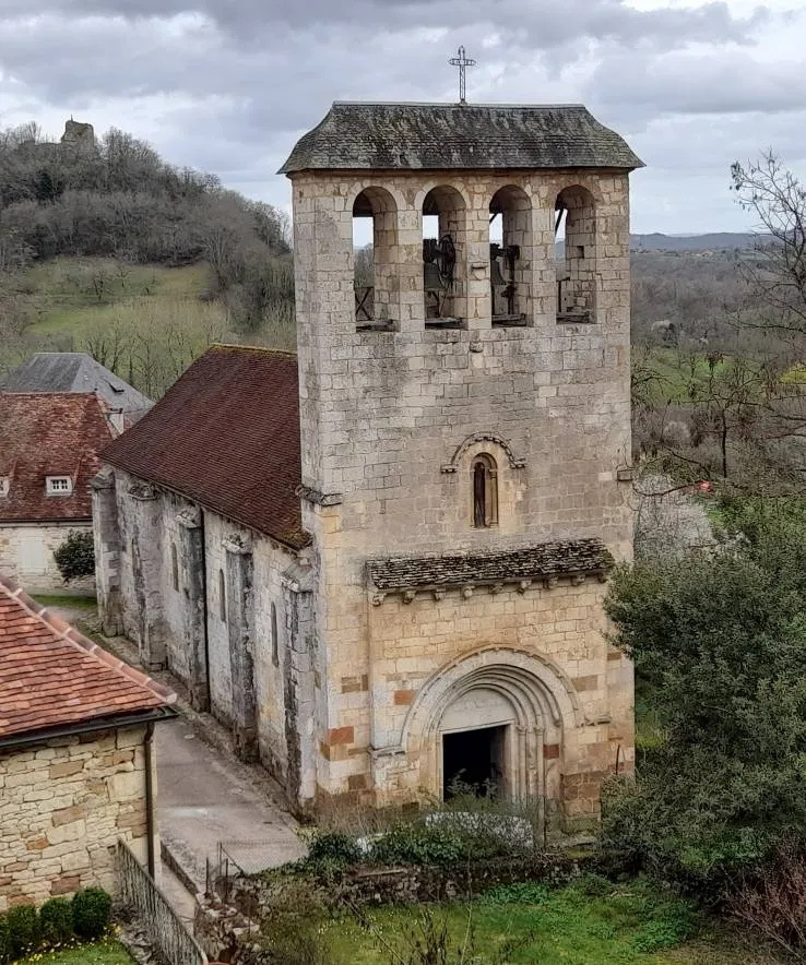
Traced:
<path id="1" fill-rule="evenodd" d="M 356 329 L 394 330 L 400 321 L 398 205 L 384 188 L 365 188 L 353 202 L 353 252 Z"/>

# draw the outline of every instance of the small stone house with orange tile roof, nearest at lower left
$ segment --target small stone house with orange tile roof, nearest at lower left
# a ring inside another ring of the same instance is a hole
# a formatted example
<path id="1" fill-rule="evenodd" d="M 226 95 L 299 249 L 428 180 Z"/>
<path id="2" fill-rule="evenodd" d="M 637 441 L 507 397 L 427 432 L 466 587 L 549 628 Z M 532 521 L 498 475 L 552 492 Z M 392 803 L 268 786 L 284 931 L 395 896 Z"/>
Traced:
<path id="1" fill-rule="evenodd" d="M 0 576 L 0 912 L 155 870 L 154 725 L 169 690 Z"/>

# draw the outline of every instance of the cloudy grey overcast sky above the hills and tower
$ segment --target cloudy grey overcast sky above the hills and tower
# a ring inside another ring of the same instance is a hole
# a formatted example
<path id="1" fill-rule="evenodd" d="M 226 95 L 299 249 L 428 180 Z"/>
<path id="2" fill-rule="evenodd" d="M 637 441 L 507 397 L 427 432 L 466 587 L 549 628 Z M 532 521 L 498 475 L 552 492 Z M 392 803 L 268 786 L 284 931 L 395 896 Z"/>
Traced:
<path id="1" fill-rule="evenodd" d="M 633 230 L 744 230 L 733 160 L 806 171 L 804 41 L 804 0 L 0 0 L 0 127 L 72 114 L 287 206 L 274 171 L 332 100 L 455 100 L 464 44 L 469 100 L 627 138 Z"/>

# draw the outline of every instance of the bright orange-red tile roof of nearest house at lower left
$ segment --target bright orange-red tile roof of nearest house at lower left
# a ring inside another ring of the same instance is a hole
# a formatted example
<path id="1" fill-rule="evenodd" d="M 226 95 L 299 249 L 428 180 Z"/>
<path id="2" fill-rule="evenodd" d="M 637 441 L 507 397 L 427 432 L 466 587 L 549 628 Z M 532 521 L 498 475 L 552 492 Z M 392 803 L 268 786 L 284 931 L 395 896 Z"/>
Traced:
<path id="1" fill-rule="evenodd" d="M 175 701 L 0 576 L 0 741 Z"/>

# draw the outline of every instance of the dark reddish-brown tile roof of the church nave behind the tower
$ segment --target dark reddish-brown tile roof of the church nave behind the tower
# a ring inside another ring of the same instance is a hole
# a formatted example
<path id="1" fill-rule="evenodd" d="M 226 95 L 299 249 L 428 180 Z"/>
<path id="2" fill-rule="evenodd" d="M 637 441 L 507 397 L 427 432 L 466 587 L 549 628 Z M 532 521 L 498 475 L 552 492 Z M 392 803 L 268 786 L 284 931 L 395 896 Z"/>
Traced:
<path id="1" fill-rule="evenodd" d="M 100 455 L 286 546 L 308 543 L 291 353 L 214 345 Z"/>

